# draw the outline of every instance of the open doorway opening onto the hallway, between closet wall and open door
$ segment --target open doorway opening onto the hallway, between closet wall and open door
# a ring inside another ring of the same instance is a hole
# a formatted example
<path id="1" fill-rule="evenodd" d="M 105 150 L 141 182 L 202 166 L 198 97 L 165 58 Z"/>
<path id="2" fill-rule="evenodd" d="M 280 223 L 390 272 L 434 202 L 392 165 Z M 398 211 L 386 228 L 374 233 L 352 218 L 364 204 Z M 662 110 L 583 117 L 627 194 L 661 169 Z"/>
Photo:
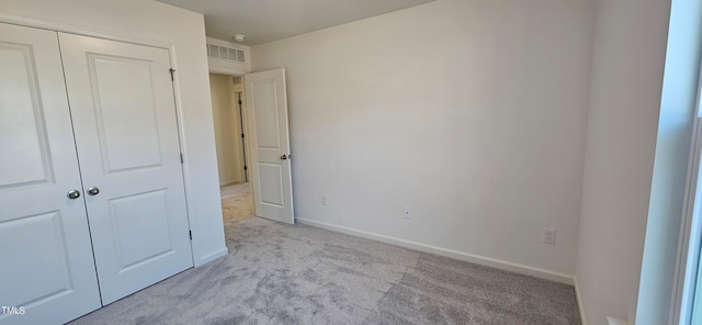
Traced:
<path id="1" fill-rule="evenodd" d="M 225 223 L 254 216 L 246 145 L 241 76 L 210 74 L 217 166 Z"/>

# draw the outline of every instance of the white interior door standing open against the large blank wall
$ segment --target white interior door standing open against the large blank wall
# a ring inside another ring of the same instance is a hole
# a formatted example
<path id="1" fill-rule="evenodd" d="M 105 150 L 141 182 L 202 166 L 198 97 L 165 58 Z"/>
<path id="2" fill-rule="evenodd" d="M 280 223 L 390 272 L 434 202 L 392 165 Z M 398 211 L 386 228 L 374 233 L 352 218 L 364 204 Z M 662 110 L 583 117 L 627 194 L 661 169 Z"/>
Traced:
<path id="1" fill-rule="evenodd" d="M 256 215 L 293 224 L 285 70 L 246 75 L 245 81 Z"/>

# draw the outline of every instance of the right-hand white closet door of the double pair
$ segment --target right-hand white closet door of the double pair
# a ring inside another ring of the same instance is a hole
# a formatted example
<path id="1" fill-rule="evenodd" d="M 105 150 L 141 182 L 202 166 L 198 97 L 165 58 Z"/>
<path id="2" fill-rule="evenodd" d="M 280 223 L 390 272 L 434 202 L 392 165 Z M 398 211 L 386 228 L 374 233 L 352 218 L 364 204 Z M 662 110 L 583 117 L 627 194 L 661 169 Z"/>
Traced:
<path id="1" fill-rule="evenodd" d="M 193 266 L 169 53 L 63 33 L 59 42 L 109 304 Z"/>

